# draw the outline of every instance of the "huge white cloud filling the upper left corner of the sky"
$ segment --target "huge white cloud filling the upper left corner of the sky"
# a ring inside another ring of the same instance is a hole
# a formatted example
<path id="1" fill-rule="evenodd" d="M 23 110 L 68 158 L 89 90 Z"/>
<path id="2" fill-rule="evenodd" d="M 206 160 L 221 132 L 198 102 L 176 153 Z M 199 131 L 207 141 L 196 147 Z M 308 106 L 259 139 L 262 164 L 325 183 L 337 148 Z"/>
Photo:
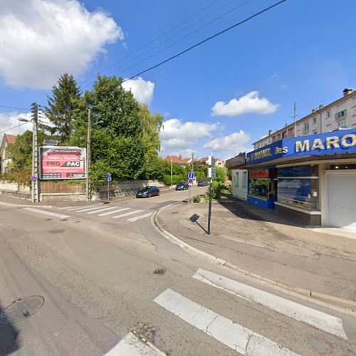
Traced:
<path id="1" fill-rule="evenodd" d="M 63 73 L 79 75 L 104 46 L 125 36 L 103 11 L 77 0 L 3 0 L 0 76 L 13 86 L 51 88 Z"/>

